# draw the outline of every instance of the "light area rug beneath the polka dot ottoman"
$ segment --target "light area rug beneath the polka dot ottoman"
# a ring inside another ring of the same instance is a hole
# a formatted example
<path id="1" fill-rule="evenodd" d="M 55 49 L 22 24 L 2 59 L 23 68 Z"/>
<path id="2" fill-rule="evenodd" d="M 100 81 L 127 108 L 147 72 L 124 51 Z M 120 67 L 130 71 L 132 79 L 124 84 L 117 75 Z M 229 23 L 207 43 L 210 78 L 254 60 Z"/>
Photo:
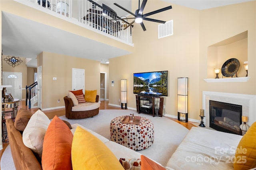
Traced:
<path id="1" fill-rule="evenodd" d="M 110 121 L 115 117 L 130 115 L 130 113 L 146 117 L 154 124 L 153 145 L 137 152 L 165 166 L 188 133 L 188 129 L 171 119 L 166 117 L 152 117 L 152 115 L 144 113 L 138 114 L 136 111 L 132 110 L 100 110 L 98 115 L 86 119 L 67 119 L 65 116 L 60 116 L 60 119 L 66 120 L 70 122 L 70 124 L 78 123 L 110 140 Z M 6 149 L 1 159 L 1 170 L 12 170 L 10 164 L 13 164 L 13 161 L 10 160 L 10 155 L 10 149 Z"/>

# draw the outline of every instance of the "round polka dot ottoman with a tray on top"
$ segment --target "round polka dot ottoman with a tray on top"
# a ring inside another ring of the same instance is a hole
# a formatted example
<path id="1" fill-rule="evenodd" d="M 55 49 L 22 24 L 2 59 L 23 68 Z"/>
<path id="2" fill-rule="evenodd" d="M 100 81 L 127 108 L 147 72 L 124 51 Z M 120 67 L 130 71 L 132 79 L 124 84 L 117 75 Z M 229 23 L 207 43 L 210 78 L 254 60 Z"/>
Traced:
<path id="1" fill-rule="evenodd" d="M 147 149 L 154 143 L 154 125 L 145 117 L 140 117 L 137 125 L 122 123 L 124 116 L 112 119 L 110 123 L 111 141 L 133 150 Z"/>

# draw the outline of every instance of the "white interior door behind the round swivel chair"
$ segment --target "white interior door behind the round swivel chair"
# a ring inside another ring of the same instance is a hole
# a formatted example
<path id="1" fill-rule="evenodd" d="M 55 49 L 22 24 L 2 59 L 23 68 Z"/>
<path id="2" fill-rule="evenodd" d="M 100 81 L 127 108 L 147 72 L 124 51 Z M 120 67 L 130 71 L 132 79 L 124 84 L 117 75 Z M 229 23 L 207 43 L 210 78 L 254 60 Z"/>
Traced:
<path id="1" fill-rule="evenodd" d="M 84 69 L 72 68 L 72 90 L 80 89 L 84 92 Z"/>

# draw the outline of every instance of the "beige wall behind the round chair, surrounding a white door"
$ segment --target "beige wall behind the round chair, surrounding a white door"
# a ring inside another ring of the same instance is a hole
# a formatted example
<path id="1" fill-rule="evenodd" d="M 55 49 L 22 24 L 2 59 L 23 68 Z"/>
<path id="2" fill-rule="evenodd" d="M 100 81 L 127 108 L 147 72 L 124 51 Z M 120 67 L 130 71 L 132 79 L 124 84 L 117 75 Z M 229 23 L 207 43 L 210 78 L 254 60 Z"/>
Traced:
<path id="1" fill-rule="evenodd" d="M 65 106 L 63 98 L 67 96 L 68 90 L 72 90 L 72 68 L 84 69 L 85 90 L 97 90 L 97 94 L 100 94 L 99 61 L 44 51 L 38 55 L 38 64 L 41 63 L 42 109 Z M 53 80 L 53 77 L 57 80 Z"/>

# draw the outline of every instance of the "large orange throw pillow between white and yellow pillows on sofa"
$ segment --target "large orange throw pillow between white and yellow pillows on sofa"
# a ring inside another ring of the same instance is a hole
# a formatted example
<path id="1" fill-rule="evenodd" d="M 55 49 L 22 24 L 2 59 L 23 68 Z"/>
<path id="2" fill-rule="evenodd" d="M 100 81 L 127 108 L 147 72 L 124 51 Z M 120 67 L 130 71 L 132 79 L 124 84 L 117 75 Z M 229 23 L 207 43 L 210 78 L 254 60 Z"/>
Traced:
<path id="1" fill-rule="evenodd" d="M 44 136 L 42 168 L 46 170 L 72 170 L 71 146 L 73 134 L 56 115 Z"/>

